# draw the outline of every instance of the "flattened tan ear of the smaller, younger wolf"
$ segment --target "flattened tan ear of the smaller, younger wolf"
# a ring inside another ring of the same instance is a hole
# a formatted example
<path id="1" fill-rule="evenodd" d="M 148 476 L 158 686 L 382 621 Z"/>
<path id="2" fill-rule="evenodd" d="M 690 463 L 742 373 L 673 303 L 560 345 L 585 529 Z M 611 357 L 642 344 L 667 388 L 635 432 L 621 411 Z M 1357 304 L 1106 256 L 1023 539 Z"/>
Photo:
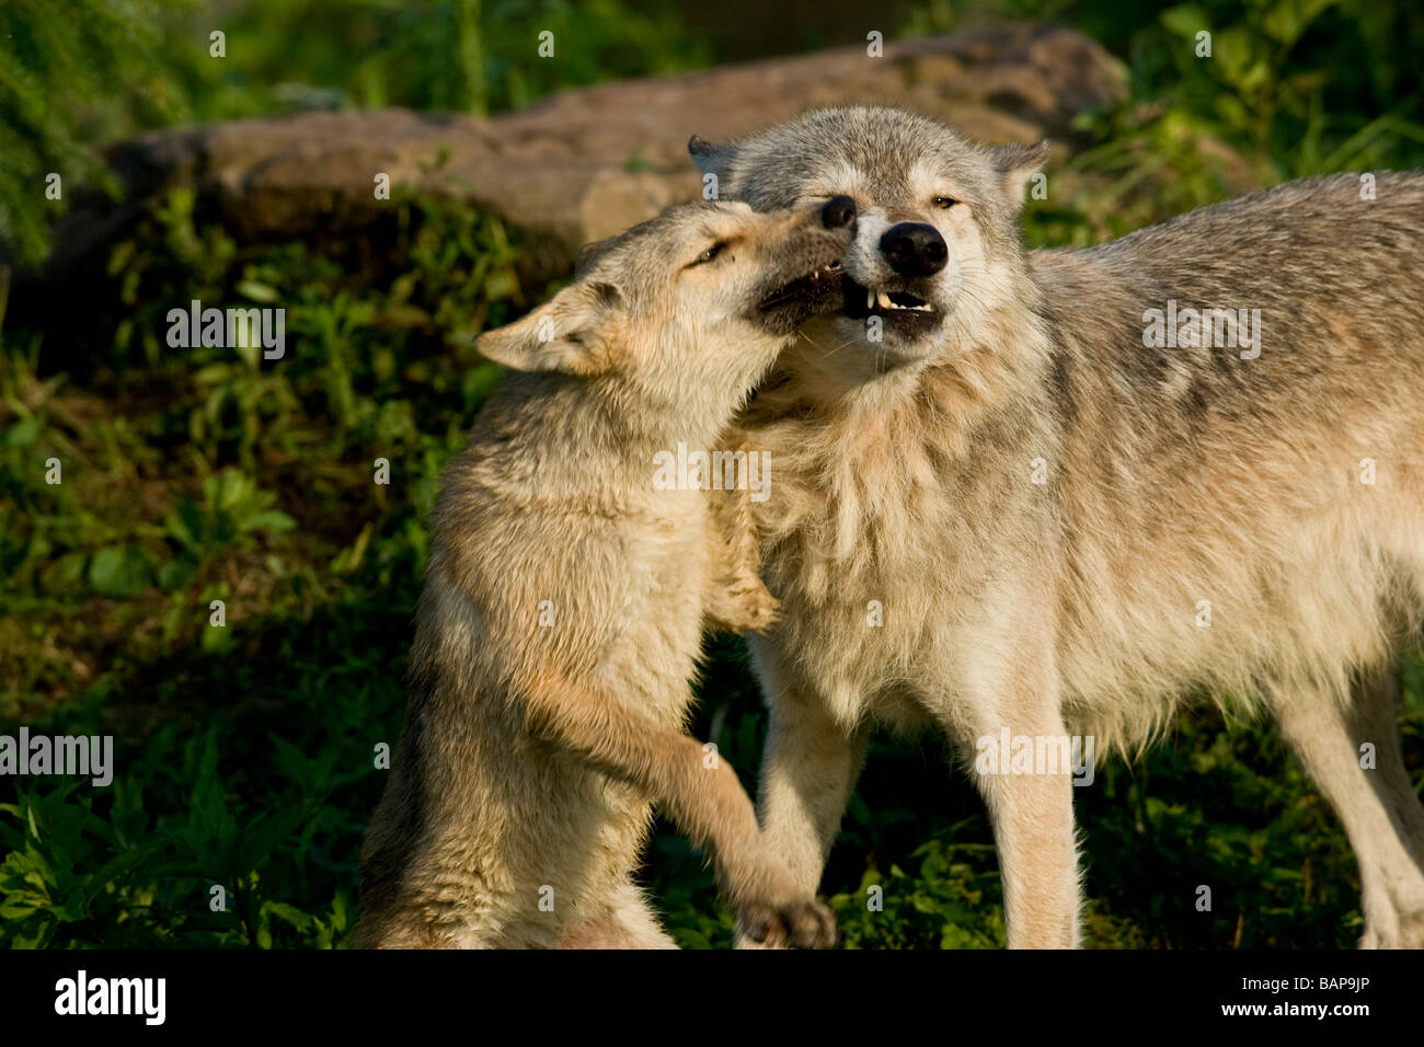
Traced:
<path id="1" fill-rule="evenodd" d="M 611 366 L 618 339 L 622 295 L 612 283 L 572 283 L 514 323 L 490 330 L 474 348 L 514 370 L 561 370 L 600 375 Z"/>

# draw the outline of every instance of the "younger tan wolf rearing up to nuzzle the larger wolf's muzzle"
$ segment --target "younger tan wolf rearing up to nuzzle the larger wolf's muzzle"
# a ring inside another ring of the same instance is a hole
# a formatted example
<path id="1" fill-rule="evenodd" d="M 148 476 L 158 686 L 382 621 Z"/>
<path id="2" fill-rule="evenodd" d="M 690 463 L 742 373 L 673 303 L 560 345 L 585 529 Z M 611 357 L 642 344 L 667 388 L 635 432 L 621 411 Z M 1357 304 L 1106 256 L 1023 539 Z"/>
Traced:
<path id="1" fill-rule="evenodd" d="M 651 802 L 711 850 L 742 934 L 829 946 L 736 775 L 685 734 L 705 617 L 775 601 L 654 460 L 709 447 L 839 302 L 849 201 L 674 208 L 480 350 L 511 375 L 443 477 L 412 694 L 362 852 L 357 947 L 666 947 L 632 882 Z M 691 486 L 691 484 L 689 484 Z"/>

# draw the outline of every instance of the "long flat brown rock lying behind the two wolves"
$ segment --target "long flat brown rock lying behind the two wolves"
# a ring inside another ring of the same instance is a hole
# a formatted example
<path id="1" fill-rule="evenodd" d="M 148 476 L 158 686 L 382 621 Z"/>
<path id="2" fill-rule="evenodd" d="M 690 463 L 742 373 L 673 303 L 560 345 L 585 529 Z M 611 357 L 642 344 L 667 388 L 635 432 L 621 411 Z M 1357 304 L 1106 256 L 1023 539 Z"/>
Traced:
<path id="1" fill-rule="evenodd" d="M 120 234 L 157 197 L 194 185 L 242 239 L 370 221 L 390 204 L 375 177 L 493 208 L 565 264 L 580 244 L 692 199 L 688 137 L 756 131 L 813 105 L 907 105 L 985 141 L 1061 135 L 1079 110 L 1119 98 L 1108 54 L 1032 23 L 843 47 L 564 91 L 481 120 L 384 110 L 303 113 L 145 134 L 110 150 L 122 205 L 78 207 L 56 238 L 66 268 Z M 443 158 L 443 162 L 441 162 Z"/>

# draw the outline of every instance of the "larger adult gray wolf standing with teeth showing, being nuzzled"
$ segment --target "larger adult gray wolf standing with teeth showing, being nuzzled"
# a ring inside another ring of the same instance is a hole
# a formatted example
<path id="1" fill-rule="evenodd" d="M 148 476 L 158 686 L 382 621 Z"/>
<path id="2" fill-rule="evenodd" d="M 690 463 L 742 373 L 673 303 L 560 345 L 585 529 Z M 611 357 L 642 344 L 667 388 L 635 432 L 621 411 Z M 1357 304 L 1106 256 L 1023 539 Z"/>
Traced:
<path id="1" fill-rule="evenodd" d="M 1424 944 L 1391 672 L 1424 617 L 1424 175 L 1030 252 L 1044 142 L 849 107 L 689 151 L 723 198 L 859 212 L 843 312 L 803 328 L 739 437 L 778 463 L 753 506 L 782 601 L 752 641 L 760 816 L 800 889 L 870 724 L 933 726 L 990 812 L 1008 944 L 1074 946 L 1072 773 L 975 754 L 1005 734 L 1131 751 L 1230 694 L 1339 812 L 1361 944 Z"/>

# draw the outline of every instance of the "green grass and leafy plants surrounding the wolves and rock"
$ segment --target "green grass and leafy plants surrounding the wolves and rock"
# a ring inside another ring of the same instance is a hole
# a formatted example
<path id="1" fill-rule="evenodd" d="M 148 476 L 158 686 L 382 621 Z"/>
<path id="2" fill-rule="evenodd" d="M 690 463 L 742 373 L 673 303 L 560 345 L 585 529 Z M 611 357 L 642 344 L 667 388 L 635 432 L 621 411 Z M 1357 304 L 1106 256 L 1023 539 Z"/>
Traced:
<path id="1" fill-rule="evenodd" d="M 120 10 L 127 36 L 104 28 L 100 9 Z M 80 177 L 78 142 L 140 127 L 295 104 L 498 110 L 715 60 L 669 10 L 253 0 L 225 19 L 219 67 L 191 7 L 95 3 L 60 26 L 38 3 L 10 4 L 0 235 L 38 255 L 40 174 Z M 1049 14 L 1131 61 L 1134 95 L 1082 117 L 1089 148 L 1052 170 L 1049 201 L 1031 202 L 1034 242 L 1094 242 L 1237 182 L 1424 164 L 1410 61 L 1424 20 L 1403 6 Z M 923 3 L 910 28 L 961 16 Z M 1190 58 L 1199 26 L 1215 33 L 1213 63 Z M 597 46 L 547 68 L 515 61 L 508 41 L 544 27 Z M 426 513 L 498 382 L 470 336 L 550 291 L 521 282 L 521 249 L 496 218 L 431 199 L 400 201 L 386 225 L 319 251 L 245 246 L 178 192 L 101 279 L 74 288 L 63 339 L 33 318 L 6 321 L 0 274 L 0 732 L 117 739 L 108 789 L 0 778 L 0 943 L 343 942 L 383 779 L 373 751 L 400 725 Z M 293 349 L 276 362 L 169 349 L 167 309 L 194 298 L 283 305 Z M 51 457 L 63 484 L 46 483 Z M 373 483 L 376 459 L 390 463 L 389 486 Z M 224 628 L 209 625 L 215 600 Z M 1405 752 L 1424 783 L 1424 664 L 1403 671 Z M 753 782 L 763 718 L 739 641 L 716 638 L 701 692 L 696 734 Z M 1079 791 L 1089 943 L 1351 944 L 1353 859 L 1274 732 L 1210 707 L 1176 726 Z M 684 944 L 729 942 L 702 858 L 666 825 L 646 879 Z M 1212 913 L 1195 912 L 1198 885 L 1212 886 Z M 871 886 L 883 912 L 867 912 Z M 1002 942 L 983 808 L 937 741 L 876 741 L 826 892 L 850 947 Z"/>

